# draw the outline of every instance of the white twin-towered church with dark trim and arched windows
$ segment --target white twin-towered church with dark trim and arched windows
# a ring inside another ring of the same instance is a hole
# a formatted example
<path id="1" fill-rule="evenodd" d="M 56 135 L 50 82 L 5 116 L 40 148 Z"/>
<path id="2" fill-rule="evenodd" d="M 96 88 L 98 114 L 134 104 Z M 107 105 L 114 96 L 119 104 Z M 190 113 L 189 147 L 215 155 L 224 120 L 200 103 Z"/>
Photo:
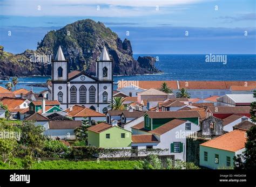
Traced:
<path id="1" fill-rule="evenodd" d="M 96 76 L 78 70 L 68 73 L 68 61 L 59 46 L 52 60 L 48 99 L 58 100 L 63 110 L 76 104 L 106 113 L 113 93 L 112 62 L 104 47 L 96 61 Z"/>

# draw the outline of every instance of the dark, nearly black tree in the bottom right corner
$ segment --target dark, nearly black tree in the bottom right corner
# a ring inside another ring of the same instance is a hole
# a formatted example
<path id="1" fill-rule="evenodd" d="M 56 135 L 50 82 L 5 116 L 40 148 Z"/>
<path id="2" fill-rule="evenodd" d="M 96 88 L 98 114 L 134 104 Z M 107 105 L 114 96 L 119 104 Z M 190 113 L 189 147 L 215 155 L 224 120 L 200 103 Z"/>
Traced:
<path id="1" fill-rule="evenodd" d="M 245 143 L 245 151 L 234 157 L 235 169 L 255 169 L 256 168 L 256 125 L 247 132 L 247 141 Z"/>

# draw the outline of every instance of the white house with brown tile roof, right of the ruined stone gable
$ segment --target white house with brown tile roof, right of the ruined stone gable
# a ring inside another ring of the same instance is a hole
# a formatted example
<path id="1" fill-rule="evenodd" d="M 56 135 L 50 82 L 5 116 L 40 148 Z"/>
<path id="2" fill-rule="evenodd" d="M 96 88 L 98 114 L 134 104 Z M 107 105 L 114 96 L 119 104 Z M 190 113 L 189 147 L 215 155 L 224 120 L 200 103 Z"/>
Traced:
<path id="1" fill-rule="evenodd" d="M 247 116 L 232 114 L 231 116 L 223 119 L 223 130 L 227 132 L 233 131 L 233 126 L 241 123 L 242 121 L 251 122 L 251 119 Z"/>

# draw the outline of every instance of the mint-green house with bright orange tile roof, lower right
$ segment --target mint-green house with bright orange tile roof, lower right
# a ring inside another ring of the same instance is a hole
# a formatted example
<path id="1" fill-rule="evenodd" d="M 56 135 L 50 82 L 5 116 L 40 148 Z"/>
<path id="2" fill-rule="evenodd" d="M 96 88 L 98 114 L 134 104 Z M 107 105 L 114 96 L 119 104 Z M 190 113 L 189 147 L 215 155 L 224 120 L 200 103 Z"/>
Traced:
<path id="1" fill-rule="evenodd" d="M 233 158 L 244 152 L 245 130 L 234 130 L 200 144 L 200 166 L 211 169 L 232 169 Z"/>

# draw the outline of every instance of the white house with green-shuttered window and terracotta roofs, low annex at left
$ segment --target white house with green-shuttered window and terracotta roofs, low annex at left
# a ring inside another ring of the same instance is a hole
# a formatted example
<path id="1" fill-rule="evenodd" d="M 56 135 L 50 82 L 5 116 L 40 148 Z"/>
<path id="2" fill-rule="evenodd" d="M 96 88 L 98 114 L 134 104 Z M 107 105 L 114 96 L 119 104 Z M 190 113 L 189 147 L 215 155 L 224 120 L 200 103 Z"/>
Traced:
<path id="1" fill-rule="evenodd" d="M 134 127 L 134 126 L 133 126 Z M 133 127 L 131 127 L 133 129 Z M 191 123 L 187 120 L 173 119 L 168 123 L 155 128 L 152 131 L 145 132 L 144 135 L 153 134 L 158 142 L 144 142 L 142 140 L 133 141 L 132 149 L 146 149 L 146 148 L 160 148 L 168 149 L 166 152 L 160 153 L 161 155 L 174 155 L 174 159 L 186 160 L 186 137 L 195 134 L 200 130 L 199 125 Z M 143 130 L 140 130 L 143 131 Z M 143 134 L 133 134 L 134 137 L 144 137 Z M 148 138 L 148 136 L 145 136 Z M 153 136 L 152 136 L 153 138 Z"/>

